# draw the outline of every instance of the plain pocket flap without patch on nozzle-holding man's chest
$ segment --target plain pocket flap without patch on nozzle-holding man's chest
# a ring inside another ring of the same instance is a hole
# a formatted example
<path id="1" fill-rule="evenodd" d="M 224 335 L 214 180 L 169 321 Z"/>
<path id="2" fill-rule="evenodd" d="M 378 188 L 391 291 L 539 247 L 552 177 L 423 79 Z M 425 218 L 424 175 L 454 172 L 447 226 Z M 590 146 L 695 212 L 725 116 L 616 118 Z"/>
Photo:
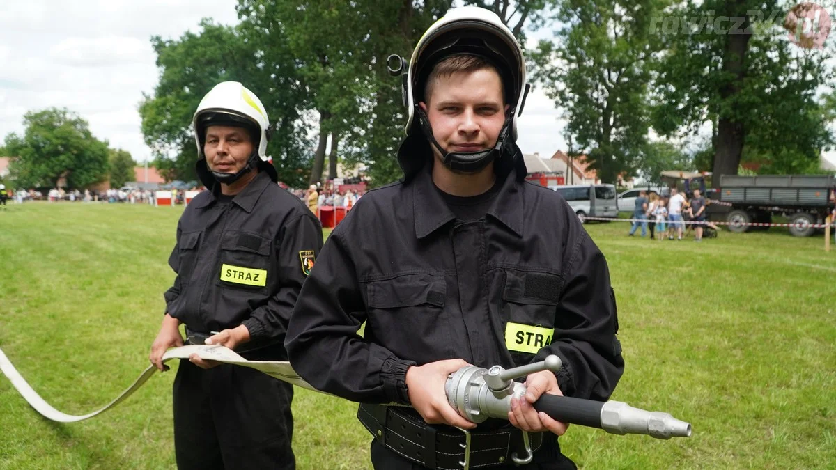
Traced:
<path id="1" fill-rule="evenodd" d="M 371 282 L 367 294 L 369 307 L 373 309 L 396 309 L 422 304 L 443 307 L 447 286 L 443 277 L 419 274 Z"/>

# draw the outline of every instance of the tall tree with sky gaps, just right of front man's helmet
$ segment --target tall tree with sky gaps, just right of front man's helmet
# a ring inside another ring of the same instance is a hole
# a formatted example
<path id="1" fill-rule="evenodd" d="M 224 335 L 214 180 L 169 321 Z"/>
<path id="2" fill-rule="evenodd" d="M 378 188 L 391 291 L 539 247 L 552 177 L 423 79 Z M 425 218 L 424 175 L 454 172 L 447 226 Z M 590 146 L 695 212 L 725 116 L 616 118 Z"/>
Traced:
<path id="1" fill-rule="evenodd" d="M 650 127 L 650 63 L 660 42 L 649 33 L 655 0 L 563 0 L 555 40 L 533 54 L 534 78 L 554 100 L 568 140 L 602 181 L 632 173 Z"/>

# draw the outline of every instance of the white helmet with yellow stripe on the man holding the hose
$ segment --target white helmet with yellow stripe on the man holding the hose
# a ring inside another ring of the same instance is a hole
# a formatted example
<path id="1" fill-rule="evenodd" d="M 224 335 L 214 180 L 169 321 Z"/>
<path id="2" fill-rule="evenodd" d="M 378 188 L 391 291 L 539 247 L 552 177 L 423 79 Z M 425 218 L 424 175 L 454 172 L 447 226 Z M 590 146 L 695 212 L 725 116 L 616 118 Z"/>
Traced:
<path id="1" fill-rule="evenodd" d="M 222 82 L 215 85 L 203 97 L 200 105 L 197 105 L 197 110 L 192 119 L 192 126 L 195 131 L 198 175 L 201 176 L 201 180 L 206 179 L 201 174 L 206 173 L 205 171 L 201 171 L 201 166 L 206 165 L 206 155 L 203 153 L 203 141 L 206 139 L 206 127 L 210 125 L 245 127 L 250 131 L 253 144 L 255 145 L 252 156 L 241 171 L 238 171 L 234 175 L 212 171 L 212 175 L 217 181 L 231 183 L 247 171 L 252 170 L 255 166 L 267 169 L 273 181 L 278 181 L 276 170 L 273 164 L 269 162 L 270 157 L 267 155 L 270 120 L 261 100 L 258 100 L 258 97 L 252 91 L 238 82 Z M 259 165 L 259 161 L 263 163 Z M 270 171 L 271 169 L 272 171 Z M 207 187 L 211 186 L 211 181 L 209 181 L 209 184 L 207 184 L 207 181 L 203 181 L 203 183 Z"/>

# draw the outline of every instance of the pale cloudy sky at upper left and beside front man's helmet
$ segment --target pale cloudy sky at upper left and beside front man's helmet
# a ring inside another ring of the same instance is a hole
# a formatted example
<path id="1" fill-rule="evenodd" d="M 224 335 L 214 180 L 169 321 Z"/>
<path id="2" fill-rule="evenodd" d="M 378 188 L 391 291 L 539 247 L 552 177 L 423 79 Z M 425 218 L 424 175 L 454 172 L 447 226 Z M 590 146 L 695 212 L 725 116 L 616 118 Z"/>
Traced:
<path id="1" fill-rule="evenodd" d="M 137 106 L 159 78 L 150 37 L 179 38 L 201 18 L 237 23 L 236 0 L 25 0 L 0 9 L 0 139 L 23 131 L 28 110 L 66 107 L 136 161 L 150 158 Z M 519 122 L 526 153 L 565 150 L 562 124 L 542 93 Z M 313 151 L 313 149 L 312 149 Z"/>

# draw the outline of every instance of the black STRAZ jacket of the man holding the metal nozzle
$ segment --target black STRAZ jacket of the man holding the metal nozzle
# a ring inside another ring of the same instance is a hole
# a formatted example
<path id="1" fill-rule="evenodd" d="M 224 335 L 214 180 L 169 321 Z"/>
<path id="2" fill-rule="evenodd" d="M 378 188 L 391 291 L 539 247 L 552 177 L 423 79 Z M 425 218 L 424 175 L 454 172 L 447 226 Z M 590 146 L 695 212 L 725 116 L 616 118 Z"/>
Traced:
<path id="1" fill-rule="evenodd" d="M 564 395 L 607 399 L 624 361 L 604 255 L 558 193 L 501 184 L 476 222 L 456 222 L 429 169 L 364 195 L 303 285 L 285 340 L 294 370 L 352 401 L 407 403 L 410 365 L 556 354 Z"/>

